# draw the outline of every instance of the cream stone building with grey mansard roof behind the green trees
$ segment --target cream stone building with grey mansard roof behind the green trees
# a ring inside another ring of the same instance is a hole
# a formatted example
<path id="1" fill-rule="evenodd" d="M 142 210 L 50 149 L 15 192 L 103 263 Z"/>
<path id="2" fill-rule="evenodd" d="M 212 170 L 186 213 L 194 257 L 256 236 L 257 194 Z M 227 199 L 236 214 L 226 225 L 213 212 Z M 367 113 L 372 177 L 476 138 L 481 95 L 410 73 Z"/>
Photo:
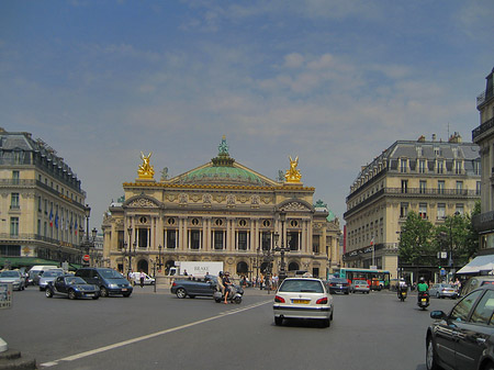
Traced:
<path id="1" fill-rule="evenodd" d="M 397 245 L 402 224 L 414 211 L 433 224 L 456 212 L 470 213 L 480 199 L 479 146 L 448 142 L 397 141 L 363 166 L 347 197 L 347 267 L 374 266 L 397 277 Z"/>

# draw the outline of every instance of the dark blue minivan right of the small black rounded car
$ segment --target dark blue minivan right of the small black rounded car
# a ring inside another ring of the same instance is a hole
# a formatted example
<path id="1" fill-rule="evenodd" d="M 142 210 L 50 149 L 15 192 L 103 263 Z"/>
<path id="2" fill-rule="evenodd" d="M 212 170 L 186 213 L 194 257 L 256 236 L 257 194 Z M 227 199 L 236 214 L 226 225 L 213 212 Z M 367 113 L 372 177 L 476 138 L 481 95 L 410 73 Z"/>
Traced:
<path id="1" fill-rule="evenodd" d="M 76 277 L 90 284 L 100 287 L 101 296 L 122 294 L 131 296 L 133 288 L 122 273 L 103 267 L 83 267 L 76 271 Z"/>

